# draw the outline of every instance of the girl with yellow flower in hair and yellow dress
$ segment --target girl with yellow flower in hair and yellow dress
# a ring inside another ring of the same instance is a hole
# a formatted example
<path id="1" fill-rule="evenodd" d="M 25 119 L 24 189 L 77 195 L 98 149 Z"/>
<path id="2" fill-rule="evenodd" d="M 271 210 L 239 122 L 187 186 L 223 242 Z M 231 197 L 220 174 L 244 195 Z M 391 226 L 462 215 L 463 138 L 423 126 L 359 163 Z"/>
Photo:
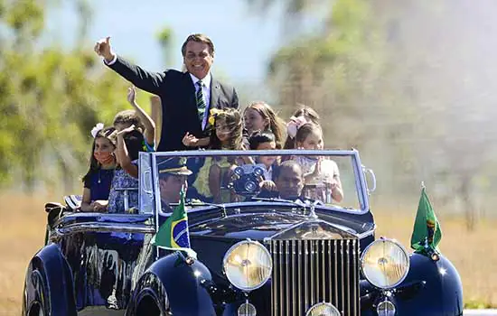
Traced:
<path id="1" fill-rule="evenodd" d="M 209 141 L 210 149 L 241 150 L 242 122 L 239 111 L 234 108 L 211 109 L 210 124 L 214 126 Z M 208 157 L 200 169 L 193 187 L 199 194 L 213 202 L 224 201 L 220 188 L 226 184 L 227 171 L 237 159 Z"/>

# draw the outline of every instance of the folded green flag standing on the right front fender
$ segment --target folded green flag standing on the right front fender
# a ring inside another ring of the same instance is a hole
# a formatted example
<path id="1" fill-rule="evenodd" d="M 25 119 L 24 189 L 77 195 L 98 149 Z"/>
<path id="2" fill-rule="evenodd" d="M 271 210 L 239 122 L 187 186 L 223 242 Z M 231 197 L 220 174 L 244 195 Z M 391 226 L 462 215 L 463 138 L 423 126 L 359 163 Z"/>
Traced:
<path id="1" fill-rule="evenodd" d="M 435 212 L 428 200 L 425 187 L 421 190 L 421 197 L 417 206 L 416 221 L 411 237 L 411 247 L 417 253 L 427 253 L 436 250 L 436 246 L 442 239 L 442 230 Z"/>

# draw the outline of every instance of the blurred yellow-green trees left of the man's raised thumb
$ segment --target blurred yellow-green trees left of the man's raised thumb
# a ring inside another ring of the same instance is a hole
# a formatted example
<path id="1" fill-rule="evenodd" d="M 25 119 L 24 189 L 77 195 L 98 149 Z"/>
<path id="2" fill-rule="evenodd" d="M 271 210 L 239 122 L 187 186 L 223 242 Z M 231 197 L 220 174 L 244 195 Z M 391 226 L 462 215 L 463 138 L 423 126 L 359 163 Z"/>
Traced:
<path id="1" fill-rule="evenodd" d="M 111 124 L 117 109 L 126 108 L 125 82 L 105 71 L 85 45 L 89 6 L 75 4 L 84 20 L 79 46 L 62 51 L 40 42 L 51 1 L 0 2 L 2 184 L 21 181 L 32 192 L 37 181 L 61 188 L 61 180 L 72 193 L 88 163 L 90 129 L 99 121 Z"/>

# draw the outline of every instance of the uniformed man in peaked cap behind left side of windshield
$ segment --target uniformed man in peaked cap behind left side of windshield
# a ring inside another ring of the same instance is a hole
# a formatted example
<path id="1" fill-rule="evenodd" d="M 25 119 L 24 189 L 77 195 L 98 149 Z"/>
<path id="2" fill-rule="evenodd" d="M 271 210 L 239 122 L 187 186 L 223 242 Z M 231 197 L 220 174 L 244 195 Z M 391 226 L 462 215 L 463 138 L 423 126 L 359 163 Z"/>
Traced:
<path id="1" fill-rule="evenodd" d="M 188 176 L 192 171 L 186 166 L 187 159 L 172 157 L 167 158 L 164 162 L 158 163 L 159 169 L 159 190 L 161 192 L 161 205 L 163 212 L 173 211 L 171 203 L 179 203 L 183 190 L 188 190 Z"/>

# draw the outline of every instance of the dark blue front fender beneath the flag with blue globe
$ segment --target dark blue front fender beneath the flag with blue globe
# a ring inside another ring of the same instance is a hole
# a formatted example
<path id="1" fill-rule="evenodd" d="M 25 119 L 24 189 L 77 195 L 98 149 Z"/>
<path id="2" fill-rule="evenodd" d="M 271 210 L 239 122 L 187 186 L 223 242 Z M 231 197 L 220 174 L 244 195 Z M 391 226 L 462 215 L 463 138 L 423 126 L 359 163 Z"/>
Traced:
<path id="1" fill-rule="evenodd" d="M 173 315 L 216 315 L 205 283 L 211 283 L 211 272 L 199 260 L 187 262 L 179 252 L 164 256 L 136 283 L 126 314 L 150 314 L 150 310 L 165 314 L 169 308 Z M 148 303 L 156 307 L 146 306 Z"/>

